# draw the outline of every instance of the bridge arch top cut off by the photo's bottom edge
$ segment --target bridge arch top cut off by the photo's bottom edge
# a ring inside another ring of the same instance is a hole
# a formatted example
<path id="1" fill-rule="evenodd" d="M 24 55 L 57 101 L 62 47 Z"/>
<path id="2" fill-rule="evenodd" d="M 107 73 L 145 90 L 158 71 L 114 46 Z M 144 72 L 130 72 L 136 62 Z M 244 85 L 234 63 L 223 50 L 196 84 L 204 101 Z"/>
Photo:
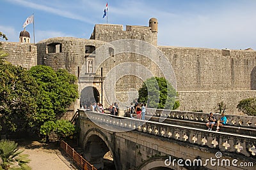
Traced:
<path id="1" fill-rule="evenodd" d="M 139 167 L 138 170 L 179 170 L 179 169 L 186 169 L 185 167 L 179 167 L 177 164 L 174 166 L 171 164 L 170 166 L 166 166 L 164 161 L 168 159 L 168 156 L 164 157 L 152 157 L 148 160 L 145 160 Z M 169 163 L 169 162 L 168 162 Z"/>

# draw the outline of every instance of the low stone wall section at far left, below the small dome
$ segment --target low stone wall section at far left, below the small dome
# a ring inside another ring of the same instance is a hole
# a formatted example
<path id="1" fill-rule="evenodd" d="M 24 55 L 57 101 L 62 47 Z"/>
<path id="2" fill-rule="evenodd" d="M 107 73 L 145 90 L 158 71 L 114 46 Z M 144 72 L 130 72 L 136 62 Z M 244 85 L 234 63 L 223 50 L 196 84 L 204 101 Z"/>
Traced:
<path id="1" fill-rule="evenodd" d="M 6 60 L 13 65 L 19 65 L 27 69 L 37 65 L 37 46 L 33 44 L 2 42 L 1 48 L 9 54 Z"/>

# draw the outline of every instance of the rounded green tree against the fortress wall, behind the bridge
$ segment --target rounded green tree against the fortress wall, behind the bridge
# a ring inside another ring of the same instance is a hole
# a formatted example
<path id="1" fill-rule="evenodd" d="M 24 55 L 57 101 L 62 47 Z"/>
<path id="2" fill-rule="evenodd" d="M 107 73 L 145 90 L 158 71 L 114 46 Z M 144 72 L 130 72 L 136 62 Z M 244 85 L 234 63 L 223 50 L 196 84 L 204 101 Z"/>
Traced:
<path id="1" fill-rule="evenodd" d="M 165 78 L 152 77 L 143 82 L 138 101 L 147 103 L 148 108 L 173 110 L 179 107 L 176 97 L 176 90 L 170 82 Z"/>

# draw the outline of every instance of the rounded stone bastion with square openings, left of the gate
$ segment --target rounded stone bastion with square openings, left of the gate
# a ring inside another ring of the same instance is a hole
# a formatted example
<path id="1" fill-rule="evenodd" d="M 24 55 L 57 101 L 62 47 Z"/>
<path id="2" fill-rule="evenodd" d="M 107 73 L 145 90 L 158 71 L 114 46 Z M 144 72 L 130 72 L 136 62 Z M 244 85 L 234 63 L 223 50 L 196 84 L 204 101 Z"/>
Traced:
<path id="1" fill-rule="evenodd" d="M 61 52 L 47 52 L 47 45 L 61 44 Z M 85 62 L 85 46 L 96 48 L 102 45 L 102 41 L 81 38 L 50 38 L 40 41 L 38 44 L 38 64 L 45 64 L 54 69 L 67 69 L 69 73 L 78 75 L 78 67 L 81 69 Z M 88 57 L 87 55 L 86 57 Z"/>

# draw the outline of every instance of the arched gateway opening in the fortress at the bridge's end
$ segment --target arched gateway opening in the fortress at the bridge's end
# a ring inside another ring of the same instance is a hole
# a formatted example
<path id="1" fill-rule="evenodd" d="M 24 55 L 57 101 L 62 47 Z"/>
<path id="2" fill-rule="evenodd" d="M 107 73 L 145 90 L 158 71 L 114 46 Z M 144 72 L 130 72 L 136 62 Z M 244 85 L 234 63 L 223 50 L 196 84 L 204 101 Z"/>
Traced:
<path id="1" fill-rule="evenodd" d="M 81 92 L 80 104 L 82 108 L 88 108 L 92 103 L 100 102 L 99 91 L 92 86 L 85 87 Z"/>

